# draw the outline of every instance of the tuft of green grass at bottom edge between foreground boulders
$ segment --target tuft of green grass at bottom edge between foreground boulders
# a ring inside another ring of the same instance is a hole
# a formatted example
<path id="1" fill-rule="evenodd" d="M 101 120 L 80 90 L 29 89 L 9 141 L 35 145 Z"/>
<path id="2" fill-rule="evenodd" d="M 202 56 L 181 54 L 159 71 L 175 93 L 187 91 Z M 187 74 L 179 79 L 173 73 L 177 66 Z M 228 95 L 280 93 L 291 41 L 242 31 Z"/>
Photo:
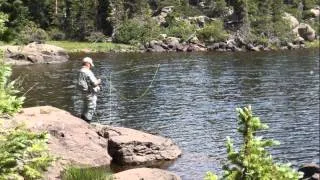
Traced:
<path id="1" fill-rule="evenodd" d="M 111 180 L 112 172 L 106 168 L 69 167 L 62 175 L 62 180 Z"/>

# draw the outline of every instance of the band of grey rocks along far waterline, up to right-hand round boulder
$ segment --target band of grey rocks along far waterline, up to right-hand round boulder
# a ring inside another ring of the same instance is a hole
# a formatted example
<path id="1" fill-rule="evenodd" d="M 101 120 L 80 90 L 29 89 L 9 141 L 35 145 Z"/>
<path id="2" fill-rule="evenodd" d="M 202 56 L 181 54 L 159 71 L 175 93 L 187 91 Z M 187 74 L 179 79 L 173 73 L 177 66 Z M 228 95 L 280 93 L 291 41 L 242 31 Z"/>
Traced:
<path id="1" fill-rule="evenodd" d="M 166 37 L 162 35 L 162 40 L 152 40 L 140 48 L 141 52 L 163 53 L 163 52 L 247 52 L 247 51 L 270 51 L 270 50 L 293 50 L 305 48 L 305 41 L 313 41 L 316 38 L 315 31 L 305 24 L 300 24 L 296 27 L 297 38 L 293 42 L 288 42 L 280 46 L 278 49 L 273 47 L 245 43 L 239 37 L 231 36 L 223 42 L 204 44 L 194 36 L 188 42 L 181 42 L 176 37 Z M 300 35 L 298 35 L 300 34 Z M 274 41 L 278 41 L 275 39 Z"/>

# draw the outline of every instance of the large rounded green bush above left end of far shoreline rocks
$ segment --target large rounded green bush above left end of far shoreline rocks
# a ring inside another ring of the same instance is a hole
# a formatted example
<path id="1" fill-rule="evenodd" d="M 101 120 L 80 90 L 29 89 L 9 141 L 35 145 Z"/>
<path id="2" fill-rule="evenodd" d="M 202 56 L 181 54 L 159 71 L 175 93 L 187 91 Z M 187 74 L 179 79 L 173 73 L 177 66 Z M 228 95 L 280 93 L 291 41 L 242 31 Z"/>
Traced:
<path id="1" fill-rule="evenodd" d="M 136 44 L 148 42 L 160 34 L 160 27 L 151 18 L 129 19 L 116 29 L 113 41 L 117 43 Z"/>

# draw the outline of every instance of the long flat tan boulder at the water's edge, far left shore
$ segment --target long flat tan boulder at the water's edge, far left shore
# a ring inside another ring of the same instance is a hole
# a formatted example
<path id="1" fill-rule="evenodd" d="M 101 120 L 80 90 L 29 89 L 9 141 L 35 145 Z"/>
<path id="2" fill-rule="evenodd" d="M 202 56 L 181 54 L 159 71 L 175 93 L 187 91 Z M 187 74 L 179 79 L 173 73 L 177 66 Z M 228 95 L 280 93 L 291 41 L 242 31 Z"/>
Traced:
<path id="1" fill-rule="evenodd" d="M 5 59 L 9 64 L 51 64 L 66 62 L 67 52 L 49 44 L 30 43 L 26 46 L 5 46 Z"/>

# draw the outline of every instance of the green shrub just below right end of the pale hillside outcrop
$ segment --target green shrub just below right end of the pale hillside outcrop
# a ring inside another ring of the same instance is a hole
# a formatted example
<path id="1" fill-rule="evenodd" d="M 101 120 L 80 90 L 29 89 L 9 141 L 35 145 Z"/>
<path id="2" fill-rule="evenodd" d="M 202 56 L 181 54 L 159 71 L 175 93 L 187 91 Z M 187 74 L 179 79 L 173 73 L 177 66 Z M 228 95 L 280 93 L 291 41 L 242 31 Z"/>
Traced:
<path id="1" fill-rule="evenodd" d="M 198 30 L 197 36 L 203 41 L 220 42 L 227 39 L 228 33 L 224 30 L 222 21 L 213 21 Z"/>

